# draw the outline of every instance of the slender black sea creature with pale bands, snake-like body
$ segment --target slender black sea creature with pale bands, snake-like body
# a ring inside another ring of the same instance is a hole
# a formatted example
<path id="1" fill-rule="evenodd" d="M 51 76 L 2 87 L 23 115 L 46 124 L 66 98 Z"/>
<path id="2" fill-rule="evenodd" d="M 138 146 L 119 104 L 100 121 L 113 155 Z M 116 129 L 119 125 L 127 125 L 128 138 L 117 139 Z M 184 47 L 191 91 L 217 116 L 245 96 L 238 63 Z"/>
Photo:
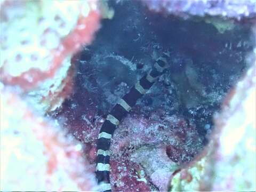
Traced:
<path id="1" fill-rule="evenodd" d="M 167 68 L 167 58 L 169 54 L 159 57 L 150 72 L 143 76 L 131 90 L 119 99 L 114 108 L 107 115 L 103 122 L 97 141 L 96 178 L 101 191 L 111 191 L 110 185 L 110 140 L 117 126 L 122 119 L 156 82 L 159 76 L 165 73 Z"/>

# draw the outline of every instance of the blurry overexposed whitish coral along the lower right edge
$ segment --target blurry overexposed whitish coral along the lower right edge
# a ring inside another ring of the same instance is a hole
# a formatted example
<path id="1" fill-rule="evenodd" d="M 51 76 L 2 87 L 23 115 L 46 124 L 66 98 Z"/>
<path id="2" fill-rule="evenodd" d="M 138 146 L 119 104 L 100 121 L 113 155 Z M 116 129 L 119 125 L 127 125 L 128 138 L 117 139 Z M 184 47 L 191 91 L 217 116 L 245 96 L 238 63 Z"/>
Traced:
<path id="1" fill-rule="evenodd" d="M 203 190 L 256 189 L 256 61 L 246 71 L 215 116 Z M 214 175 L 214 177 L 213 177 Z M 207 178 L 207 179 L 206 179 Z"/>

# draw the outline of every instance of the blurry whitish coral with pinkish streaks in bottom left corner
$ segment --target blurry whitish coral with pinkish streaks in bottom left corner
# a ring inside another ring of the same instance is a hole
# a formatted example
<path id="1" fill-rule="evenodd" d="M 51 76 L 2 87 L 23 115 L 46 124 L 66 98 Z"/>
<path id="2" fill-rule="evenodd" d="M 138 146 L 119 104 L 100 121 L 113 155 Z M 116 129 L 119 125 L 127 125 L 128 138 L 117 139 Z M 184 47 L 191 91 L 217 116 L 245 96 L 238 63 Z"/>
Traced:
<path id="1" fill-rule="evenodd" d="M 1 191 L 89 191 L 96 186 L 81 143 L 10 89 L 1 90 L 0 173 Z"/>

